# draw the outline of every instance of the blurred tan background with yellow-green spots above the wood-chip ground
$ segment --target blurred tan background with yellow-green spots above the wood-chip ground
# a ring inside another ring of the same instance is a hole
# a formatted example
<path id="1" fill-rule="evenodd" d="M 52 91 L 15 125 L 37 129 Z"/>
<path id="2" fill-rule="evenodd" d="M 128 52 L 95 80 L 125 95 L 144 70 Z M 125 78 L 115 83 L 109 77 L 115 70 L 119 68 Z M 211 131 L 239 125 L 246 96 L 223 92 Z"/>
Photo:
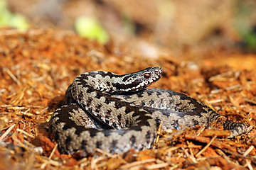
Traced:
<path id="1" fill-rule="evenodd" d="M 256 52 L 255 0 L 0 2 L 1 27 L 70 30 L 146 57 L 167 51 L 188 59 L 218 50 Z"/>

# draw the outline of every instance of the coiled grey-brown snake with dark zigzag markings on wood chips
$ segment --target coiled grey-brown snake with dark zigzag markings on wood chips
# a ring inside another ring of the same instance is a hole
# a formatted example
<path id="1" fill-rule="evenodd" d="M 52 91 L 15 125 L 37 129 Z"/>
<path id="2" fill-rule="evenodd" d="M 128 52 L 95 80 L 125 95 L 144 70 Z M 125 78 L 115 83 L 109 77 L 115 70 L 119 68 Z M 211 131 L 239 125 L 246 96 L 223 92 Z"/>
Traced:
<path id="1" fill-rule="evenodd" d="M 220 117 L 186 94 L 146 89 L 161 78 L 161 67 L 130 74 L 94 71 L 80 74 L 66 93 L 64 106 L 49 121 L 50 137 L 63 154 L 87 157 L 102 149 L 121 154 L 150 149 L 157 131 L 209 125 Z M 245 123 L 225 121 L 230 137 L 246 132 Z"/>

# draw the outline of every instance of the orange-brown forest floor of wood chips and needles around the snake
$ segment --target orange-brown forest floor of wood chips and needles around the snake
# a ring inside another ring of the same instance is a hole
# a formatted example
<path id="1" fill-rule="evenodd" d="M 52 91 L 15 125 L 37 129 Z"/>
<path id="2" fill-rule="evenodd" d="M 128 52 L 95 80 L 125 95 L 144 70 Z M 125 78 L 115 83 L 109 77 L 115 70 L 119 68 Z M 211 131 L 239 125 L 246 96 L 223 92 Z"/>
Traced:
<path id="1" fill-rule="evenodd" d="M 129 50 L 63 30 L 1 30 L 0 169 L 256 169 L 255 55 L 211 49 L 191 62 L 168 52 L 148 58 Z M 152 149 L 120 155 L 97 150 L 98 157 L 75 159 L 58 152 L 47 123 L 78 74 L 152 66 L 164 70 L 152 88 L 188 94 L 251 129 L 231 140 L 221 127 L 160 130 Z"/>

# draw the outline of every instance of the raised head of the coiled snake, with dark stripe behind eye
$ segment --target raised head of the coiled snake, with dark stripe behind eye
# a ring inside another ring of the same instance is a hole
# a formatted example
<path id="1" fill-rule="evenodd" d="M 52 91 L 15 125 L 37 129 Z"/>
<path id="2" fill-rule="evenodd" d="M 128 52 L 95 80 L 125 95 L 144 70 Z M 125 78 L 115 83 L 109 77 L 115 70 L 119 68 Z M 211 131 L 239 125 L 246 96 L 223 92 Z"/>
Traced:
<path id="1" fill-rule="evenodd" d="M 139 72 L 122 75 L 122 81 L 114 84 L 117 91 L 139 91 L 150 86 L 161 78 L 161 67 L 148 67 Z"/>

